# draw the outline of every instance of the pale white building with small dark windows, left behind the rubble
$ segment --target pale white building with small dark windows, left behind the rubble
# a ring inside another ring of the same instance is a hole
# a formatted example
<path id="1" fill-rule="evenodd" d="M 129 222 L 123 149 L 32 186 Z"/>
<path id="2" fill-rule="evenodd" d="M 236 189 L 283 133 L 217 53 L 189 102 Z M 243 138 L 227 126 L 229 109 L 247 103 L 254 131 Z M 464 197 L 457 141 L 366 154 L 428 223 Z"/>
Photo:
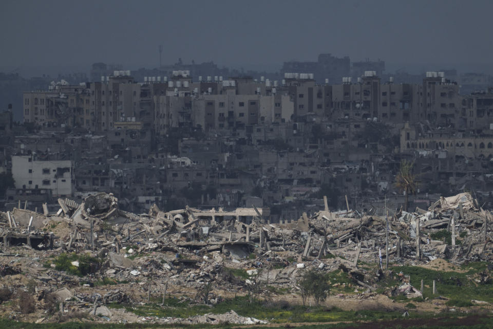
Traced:
<path id="1" fill-rule="evenodd" d="M 50 190 L 53 196 L 72 194 L 72 161 L 33 160 L 32 155 L 12 156 L 16 189 Z"/>

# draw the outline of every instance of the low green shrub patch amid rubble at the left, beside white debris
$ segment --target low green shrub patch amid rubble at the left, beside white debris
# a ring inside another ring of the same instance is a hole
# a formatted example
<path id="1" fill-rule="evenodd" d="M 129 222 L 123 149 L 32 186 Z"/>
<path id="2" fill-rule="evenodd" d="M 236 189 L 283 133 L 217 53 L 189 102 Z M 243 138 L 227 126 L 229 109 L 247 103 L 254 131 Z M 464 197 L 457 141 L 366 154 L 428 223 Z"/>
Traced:
<path id="1" fill-rule="evenodd" d="M 72 265 L 72 262 L 79 262 L 79 266 Z M 58 257 L 50 260 L 45 264 L 45 267 L 50 267 L 55 264 L 55 268 L 60 271 L 69 272 L 75 276 L 85 276 L 92 273 L 100 266 L 100 261 L 97 258 L 91 257 L 89 254 L 61 253 Z"/>

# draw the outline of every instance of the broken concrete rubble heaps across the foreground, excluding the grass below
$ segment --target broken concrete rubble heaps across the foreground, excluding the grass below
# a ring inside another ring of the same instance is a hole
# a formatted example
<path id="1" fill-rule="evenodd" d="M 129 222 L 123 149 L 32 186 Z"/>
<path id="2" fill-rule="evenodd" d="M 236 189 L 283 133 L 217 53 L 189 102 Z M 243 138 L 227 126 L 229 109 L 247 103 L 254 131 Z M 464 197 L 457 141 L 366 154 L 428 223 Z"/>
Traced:
<path id="1" fill-rule="evenodd" d="M 105 321 L 119 321 L 115 314 L 123 312 L 111 304 L 139 305 L 151 297 L 164 303 L 177 296 L 215 304 L 248 294 L 257 282 L 296 294 L 300 275 L 311 268 L 342 269 L 353 280 L 348 286 L 369 298 L 386 258 L 413 265 L 492 258 L 491 214 L 468 193 L 442 197 L 426 210 L 389 209 L 381 216 L 373 209 L 326 208 L 277 224 L 269 223 L 268 210 L 255 207 L 163 212 L 154 205 L 137 215 L 120 210 L 106 193 L 81 204 L 69 199 L 59 204 L 56 214 L 18 208 L 0 213 L 0 285 L 14 289 L 33 281 L 39 308 L 54 294 L 64 313 L 85 312 Z M 358 260 L 379 264 L 378 272 L 358 267 Z M 421 296 L 404 280 L 390 294 Z M 234 311 L 146 321 L 263 323 Z"/>

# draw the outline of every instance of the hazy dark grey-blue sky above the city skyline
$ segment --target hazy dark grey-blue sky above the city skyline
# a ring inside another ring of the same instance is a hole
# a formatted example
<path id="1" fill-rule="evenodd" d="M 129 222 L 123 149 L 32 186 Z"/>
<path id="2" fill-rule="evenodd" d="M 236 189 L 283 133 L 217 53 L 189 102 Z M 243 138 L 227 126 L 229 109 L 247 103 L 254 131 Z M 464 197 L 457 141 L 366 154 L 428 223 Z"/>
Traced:
<path id="1" fill-rule="evenodd" d="M 493 1 L 1 0 L 0 65 L 490 64 Z"/>

